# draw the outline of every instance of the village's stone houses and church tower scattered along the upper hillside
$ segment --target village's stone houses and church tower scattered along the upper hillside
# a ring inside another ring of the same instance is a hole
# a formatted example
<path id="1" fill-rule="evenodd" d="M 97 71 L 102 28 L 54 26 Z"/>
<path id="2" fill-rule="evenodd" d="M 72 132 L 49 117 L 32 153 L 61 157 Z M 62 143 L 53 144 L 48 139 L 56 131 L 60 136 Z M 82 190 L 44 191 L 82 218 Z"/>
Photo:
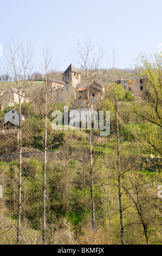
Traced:
<path id="1" fill-rule="evenodd" d="M 118 80 L 116 84 L 122 84 L 125 91 L 131 93 L 132 96 L 145 96 L 145 80 L 141 78 Z M 105 92 L 111 82 L 105 84 L 93 83 L 89 86 L 89 95 L 92 109 L 99 110 L 103 99 L 105 99 Z M 41 90 L 40 94 L 43 91 Z M 9 107 L 10 110 L 4 115 L 4 122 L 1 127 L 1 139 L 5 142 L 4 137 L 9 133 L 13 138 L 15 137 L 15 130 L 19 126 L 19 117 L 14 105 L 18 103 L 18 90 L 14 87 L 10 87 L 7 90 L 1 90 L 0 106 L 3 111 L 4 108 Z M 70 64 L 68 68 L 62 73 L 62 80 L 55 78 L 49 78 L 48 80 L 48 96 L 55 95 L 57 103 L 74 102 L 70 107 L 70 110 L 79 113 L 79 118 L 76 117 L 76 123 L 81 119 L 82 112 L 87 111 L 87 84 L 82 83 L 81 73 L 73 64 Z M 28 97 L 25 97 L 25 92 L 21 92 L 21 103 L 31 102 Z M 108 110 L 108 109 L 107 109 Z M 25 120 L 25 117 L 21 119 L 21 123 Z M 8 132 L 9 130 L 9 132 Z M 14 131 L 12 131 L 14 130 Z M 5 132 L 4 132 L 5 131 Z M 17 131 L 18 132 L 18 131 Z M 8 139 L 7 139 L 8 140 Z M 15 144 L 15 141 L 13 140 Z M 10 146 L 9 146 L 10 148 Z M 12 148 L 12 147 L 11 147 Z M 7 148 L 7 151 L 9 149 Z M 12 151 L 10 151 L 11 153 Z"/>

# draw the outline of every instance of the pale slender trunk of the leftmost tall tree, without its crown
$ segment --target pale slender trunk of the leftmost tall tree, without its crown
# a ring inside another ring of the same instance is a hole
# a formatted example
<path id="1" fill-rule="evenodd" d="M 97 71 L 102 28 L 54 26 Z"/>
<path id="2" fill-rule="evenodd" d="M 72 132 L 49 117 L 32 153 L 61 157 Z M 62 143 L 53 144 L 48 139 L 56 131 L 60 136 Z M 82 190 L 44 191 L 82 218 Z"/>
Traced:
<path id="1" fill-rule="evenodd" d="M 20 245 L 21 236 L 21 174 L 22 174 L 22 128 L 21 128 L 21 101 L 19 99 L 19 172 L 18 172 L 18 207 L 17 207 L 17 245 Z"/>

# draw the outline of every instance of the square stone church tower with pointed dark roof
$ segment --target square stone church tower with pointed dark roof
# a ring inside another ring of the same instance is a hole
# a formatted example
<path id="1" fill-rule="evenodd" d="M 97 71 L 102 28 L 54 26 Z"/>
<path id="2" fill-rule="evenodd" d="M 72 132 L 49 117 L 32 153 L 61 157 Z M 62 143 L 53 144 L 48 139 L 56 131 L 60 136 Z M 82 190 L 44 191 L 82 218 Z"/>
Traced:
<path id="1" fill-rule="evenodd" d="M 80 83 L 80 72 L 75 69 L 75 67 L 72 65 L 72 63 L 68 66 L 66 71 L 62 74 L 62 80 L 63 82 L 69 84 L 70 86 L 76 88 L 76 84 Z"/>

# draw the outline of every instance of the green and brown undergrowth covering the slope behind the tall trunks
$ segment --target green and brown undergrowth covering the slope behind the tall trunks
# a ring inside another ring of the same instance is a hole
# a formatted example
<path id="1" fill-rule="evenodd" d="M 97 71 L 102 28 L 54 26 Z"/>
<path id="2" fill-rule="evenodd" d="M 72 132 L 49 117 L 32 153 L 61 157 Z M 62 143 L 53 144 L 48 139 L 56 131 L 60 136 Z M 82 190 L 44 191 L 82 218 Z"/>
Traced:
<path id="1" fill-rule="evenodd" d="M 157 187 L 162 180 L 160 169 L 157 167 L 154 170 L 149 163 L 141 164 L 140 161 L 141 157 L 150 157 L 151 154 L 152 146 L 148 144 L 150 124 L 132 111 L 135 100 L 128 101 L 127 93 L 121 87 L 120 97 L 120 164 L 123 172 L 125 241 L 128 244 L 147 242 L 137 207 L 139 205 L 142 208 L 142 218 L 147 223 L 150 243 L 161 243 L 161 201 L 157 197 Z M 22 105 L 22 111 L 30 119 L 23 127 L 23 145 L 43 150 L 42 119 L 34 115 L 33 106 L 27 108 L 26 105 L 27 103 Z M 63 106 L 57 107 L 61 109 Z M 102 101 L 100 109 L 111 109 L 113 124 L 114 108 L 109 96 Z M 49 121 L 50 119 L 49 117 Z M 73 131 L 72 148 L 70 130 L 54 132 L 49 126 L 48 143 L 53 145 L 50 150 L 60 150 L 60 155 L 47 165 L 47 243 L 120 243 L 114 129 L 111 125 L 111 133 L 106 138 L 98 137 L 96 131 L 93 132 L 96 211 L 94 236 L 90 228 L 89 157 L 88 150 L 85 150 L 88 149 L 88 133 Z M 152 154 L 155 157 L 159 155 L 154 148 Z M 1 243 L 16 243 L 14 227 L 17 218 L 18 163 L 1 162 L 0 169 L 4 188 L 1 199 Z M 22 243 L 41 243 L 42 170 L 38 159 L 23 159 Z"/>

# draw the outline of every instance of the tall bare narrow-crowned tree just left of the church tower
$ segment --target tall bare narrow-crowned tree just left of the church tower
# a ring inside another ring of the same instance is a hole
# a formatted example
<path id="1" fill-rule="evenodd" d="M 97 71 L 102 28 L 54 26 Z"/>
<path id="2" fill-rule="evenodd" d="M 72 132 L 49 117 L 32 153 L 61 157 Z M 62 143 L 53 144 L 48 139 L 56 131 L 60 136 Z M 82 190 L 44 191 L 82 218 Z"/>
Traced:
<path id="1" fill-rule="evenodd" d="M 43 210 L 42 210 L 42 243 L 46 245 L 46 197 L 47 197 L 47 181 L 46 181 L 46 173 L 49 159 L 47 157 L 47 151 L 49 148 L 53 147 L 54 144 L 48 141 L 48 129 L 51 125 L 51 121 L 49 120 L 50 113 L 54 110 L 54 106 L 58 100 L 59 92 L 53 90 L 50 87 L 49 80 L 54 76 L 54 72 L 56 70 L 56 64 L 52 62 L 52 56 L 48 48 L 43 51 L 43 84 L 41 92 L 35 92 L 33 97 L 33 102 L 36 106 L 36 114 L 39 120 L 42 120 L 43 126 L 43 134 L 41 138 L 42 148 L 44 150 L 44 159 L 41 161 L 43 166 Z M 40 138 L 39 138 L 40 139 Z"/>

